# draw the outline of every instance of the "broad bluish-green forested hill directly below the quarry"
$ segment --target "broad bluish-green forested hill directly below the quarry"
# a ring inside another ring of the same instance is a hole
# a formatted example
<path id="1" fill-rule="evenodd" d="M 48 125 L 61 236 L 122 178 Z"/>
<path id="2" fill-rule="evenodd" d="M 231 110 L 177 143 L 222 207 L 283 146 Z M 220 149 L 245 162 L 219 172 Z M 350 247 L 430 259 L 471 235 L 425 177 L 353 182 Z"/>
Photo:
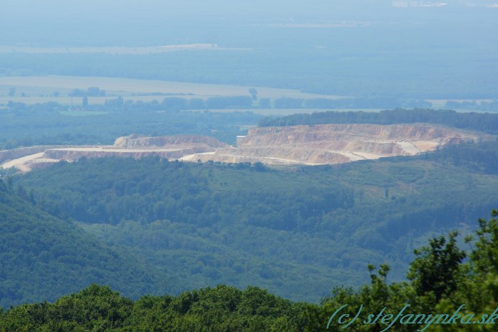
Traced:
<path id="1" fill-rule="evenodd" d="M 11 186 L 139 255 L 176 290 L 255 285 L 318 301 L 366 282 L 369 263 L 388 262 L 390 278 L 403 279 L 428 238 L 470 232 L 498 202 L 497 160 L 495 142 L 297 171 L 92 159 Z"/>

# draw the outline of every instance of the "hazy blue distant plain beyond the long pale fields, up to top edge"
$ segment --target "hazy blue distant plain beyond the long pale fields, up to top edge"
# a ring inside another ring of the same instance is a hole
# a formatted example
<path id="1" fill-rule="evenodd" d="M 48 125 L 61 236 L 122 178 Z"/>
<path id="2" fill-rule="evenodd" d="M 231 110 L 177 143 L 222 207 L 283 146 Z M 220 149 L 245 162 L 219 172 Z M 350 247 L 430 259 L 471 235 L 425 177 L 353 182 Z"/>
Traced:
<path id="1" fill-rule="evenodd" d="M 495 0 L 8 0 L 0 75 L 285 87 L 330 95 L 498 97 Z M 102 55 L 41 48 L 209 44 Z M 11 48 L 16 46 L 18 48 Z M 32 53 L 21 48 L 37 48 Z M 10 53 L 9 53 L 10 52 Z M 60 52 L 59 52 L 60 53 Z"/>

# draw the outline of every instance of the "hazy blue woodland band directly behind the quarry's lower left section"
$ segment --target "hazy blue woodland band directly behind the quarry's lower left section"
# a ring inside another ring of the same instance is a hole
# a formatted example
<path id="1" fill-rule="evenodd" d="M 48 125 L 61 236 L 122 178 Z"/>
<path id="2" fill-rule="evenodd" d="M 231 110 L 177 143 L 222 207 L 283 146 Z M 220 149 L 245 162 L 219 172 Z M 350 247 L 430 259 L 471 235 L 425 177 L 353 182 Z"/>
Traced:
<path id="1" fill-rule="evenodd" d="M 215 136 L 235 144 L 245 134 L 240 124 L 257 124 L 262 117 L 252 112 L 208 112 L 203 100 L 189 100 L 187 107 L 203 112 L 179 112 L 184 100 L 131 102 L 109 99 L 105 105 L 68 107 L 57 102 L 28 105 L 9 102 L 0 111 L 0 149 L 40 144 L 112 144 L 133 132 L 151 136 L 194 134 Z M 83 116 L 78 116 L 83 115 Z"/>

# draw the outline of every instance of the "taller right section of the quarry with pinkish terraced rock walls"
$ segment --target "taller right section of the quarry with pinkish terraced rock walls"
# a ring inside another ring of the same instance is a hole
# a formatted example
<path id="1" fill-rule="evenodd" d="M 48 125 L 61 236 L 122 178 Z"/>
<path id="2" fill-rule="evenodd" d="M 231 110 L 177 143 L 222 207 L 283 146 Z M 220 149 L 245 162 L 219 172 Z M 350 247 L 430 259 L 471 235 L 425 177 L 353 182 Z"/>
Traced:
<path id="1" fill-rule="evenodd" d="M 483 135 L 428 124 L 319 124 L 255 127 L 236 148 L 193 156 L 201 161 L 260 161 L 264 164 L 341 164 L 383 156 L 413 156 Z"/>

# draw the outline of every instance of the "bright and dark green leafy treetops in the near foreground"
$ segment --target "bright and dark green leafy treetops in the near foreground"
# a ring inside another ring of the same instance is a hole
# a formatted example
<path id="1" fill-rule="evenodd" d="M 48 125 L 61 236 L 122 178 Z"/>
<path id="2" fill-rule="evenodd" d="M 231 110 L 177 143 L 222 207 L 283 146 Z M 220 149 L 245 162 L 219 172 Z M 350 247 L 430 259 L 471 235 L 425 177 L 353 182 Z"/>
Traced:
<path id="1" fill-rule="evenodd" d="M 479 220 L 472 240 L 475 249 L 469 252 L 457 246 L 457 232 L 433 238 L 416 250 L 410 282 L 390 284 L 387 264 L 377 271 L 369 265 L 370 284 L 358 291 L 336 288 L 320 305 L 291 302 L 257 287 L 241 291 L 219 285 L 132 301 L 109 287 L 91 285 L 53 304 L 0 311 L 0 329 L 344 331 L 349 326 L 351 331 L 493 331 L 498 301 L 497 216 L 498 210 L 493 210 L 491 219 Z M 338 312 L 341 316 L 336 316 Z"/>

